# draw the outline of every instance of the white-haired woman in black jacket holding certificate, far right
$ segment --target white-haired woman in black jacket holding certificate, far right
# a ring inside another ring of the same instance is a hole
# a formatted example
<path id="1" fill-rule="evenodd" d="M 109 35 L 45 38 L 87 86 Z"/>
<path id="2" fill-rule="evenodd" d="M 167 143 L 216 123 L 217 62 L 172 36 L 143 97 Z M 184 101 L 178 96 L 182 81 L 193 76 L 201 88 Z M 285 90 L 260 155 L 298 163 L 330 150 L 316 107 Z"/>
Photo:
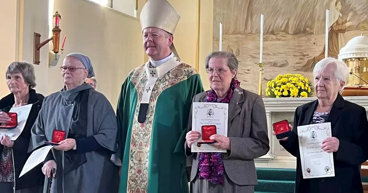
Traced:
<path id="1" fill-rule="evenodd" d="M 335 58 L 319 61 L 313 70 L 317 100 L 298 107 L 293 135 L 279 139 L 297 158 L 295 193 L 363 193 L 360 165 L 367 160 L 368 121 L 364 107 L 344 100 L 340 91 L 349 70 Z M 298 144 L 297 126 L 330 122 L 332 136 L 322 141 L 323 151 L 333 154 L 335 176 L 304 179 Z M 274 133 L 275 135 L 275 133 Z"/>

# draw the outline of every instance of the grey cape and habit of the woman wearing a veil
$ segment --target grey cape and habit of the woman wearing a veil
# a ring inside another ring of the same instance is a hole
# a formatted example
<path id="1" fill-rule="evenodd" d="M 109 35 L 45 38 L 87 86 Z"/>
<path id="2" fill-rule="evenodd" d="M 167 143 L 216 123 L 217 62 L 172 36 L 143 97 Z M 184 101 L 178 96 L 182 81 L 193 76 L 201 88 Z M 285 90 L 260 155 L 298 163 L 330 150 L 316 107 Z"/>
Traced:
<path id="1" fill-rule="evenodd" d="M 77 96 L 81 92 L 85 93 L 85 98 L 80 99 L 79 103 L 84 103 L 83 107 L 87 110 L 80 110 L 81 113 L 76 118 L 73 113 L 75 112 L 74 108 L 78 108 Z M 69 138 L 71 124 L 73 120 L 78 118 L 85 120 L 85 122 L 76 129 L 77 131 L 83 127 L 86 137 L 93 136 L 104 150 L 111 153 L 116 152 L 115 112 L 106 97 L 86 83 L 75 89 L 50 94 L 45 98 L 31 130 L 32 138 L 29 149 L 37 149 L 43 146 L 45 141 L 52 141 L 54 130 L 66 131 L 66 138 Z M 84 153 L 75 153 L 73 152 L 75 150 L 69 151 L 52 149 L 52 157 L 56 161 L 57 169 L 50 193 L 113 193 L 117 190 L 118 184 L 114 181 L 116 178 L 118 180 L 118 168 L 110 160 L 109 155 L 103 154 L 99 150 Z M 74 158 L 82 155 L 85 161 L 79 163 L 78 167 L 69 168 L 69 171 L 66 172 L 65 166 L 67 162 L 70 162 L 70 159 L 66 157 L 67 153 L 74 155 Z M 46 184 L 47 177 L 45 178 Z M 114 185 L 116 187 L 113 187 Z M 46 188 L 44 192 L 46 192 Z"/>

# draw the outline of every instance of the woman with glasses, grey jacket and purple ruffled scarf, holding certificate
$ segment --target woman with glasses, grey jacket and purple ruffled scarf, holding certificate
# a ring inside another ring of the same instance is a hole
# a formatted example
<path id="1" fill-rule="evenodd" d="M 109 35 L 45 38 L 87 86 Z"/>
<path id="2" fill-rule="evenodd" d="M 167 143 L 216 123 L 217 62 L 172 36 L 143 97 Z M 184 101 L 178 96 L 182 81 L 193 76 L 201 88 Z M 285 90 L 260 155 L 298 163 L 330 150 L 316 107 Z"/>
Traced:
<path id="1" fill-rule="evenodd" d="M 190 182 L 194 193 L 252 193 L 257 184 L 254 159 L 269 151 L 266 111 L 261 96 L 242 89 L 236 79 L 234 54 L 217 51 L 206 57 L 211 89 L 193 102 L 229 103 L 227 136 L 212 135 L 210 144 L 226 153 L 192 153 L 201 133 L 188 124 L 185 154 L 192 159 Z M 216 161 L 215 161 L 216 160 Z"/>

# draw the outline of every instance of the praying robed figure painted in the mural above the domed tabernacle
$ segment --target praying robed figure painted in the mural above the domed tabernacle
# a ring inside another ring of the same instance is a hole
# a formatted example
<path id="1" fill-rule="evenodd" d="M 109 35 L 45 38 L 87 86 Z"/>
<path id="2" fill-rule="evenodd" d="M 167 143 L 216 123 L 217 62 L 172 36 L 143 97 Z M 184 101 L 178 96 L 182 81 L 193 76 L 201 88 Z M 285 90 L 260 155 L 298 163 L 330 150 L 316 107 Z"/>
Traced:
<path id="1" fill-rule="evenodd" d="M 340 0 L 333 0 L 330 4 L 329 11 L 329 32 L 328 32 L 328 57 L 337 57 L 340 49 L 345 46 L 344 33 L 348 26 L 351 26 L 353 22 L 350 22 L 353 12 L 350 12 L 347 19 L 343 20 L 340 10 L 342 9 Z M 313 69 L 314 65 L 325 58 L 326 45 L 323 47 L 322 53 L 319 56 L 315 56 L 307 61 L 302 68 Z"/>

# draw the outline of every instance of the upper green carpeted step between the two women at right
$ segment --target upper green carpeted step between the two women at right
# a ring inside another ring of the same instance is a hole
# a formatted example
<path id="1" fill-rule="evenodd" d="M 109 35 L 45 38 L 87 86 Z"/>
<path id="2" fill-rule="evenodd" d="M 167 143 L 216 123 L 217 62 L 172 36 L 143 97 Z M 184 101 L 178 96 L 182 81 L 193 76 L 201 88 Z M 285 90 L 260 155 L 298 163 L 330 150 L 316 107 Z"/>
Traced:
<path id="1" fill-rule="evenodd" d="M 256 168 L 258 180 L 282 180 L 295 182 L 295 169 Z"/>

